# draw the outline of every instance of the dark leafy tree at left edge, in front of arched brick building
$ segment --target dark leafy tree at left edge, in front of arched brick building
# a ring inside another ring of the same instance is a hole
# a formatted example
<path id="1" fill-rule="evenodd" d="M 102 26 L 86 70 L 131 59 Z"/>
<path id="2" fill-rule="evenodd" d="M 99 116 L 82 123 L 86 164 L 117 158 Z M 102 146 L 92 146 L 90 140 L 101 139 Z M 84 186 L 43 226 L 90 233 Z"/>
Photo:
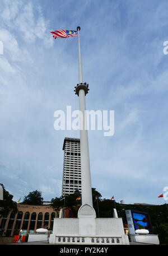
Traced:
<path id="1" fill-rule="evenodd" d="M 12 200 L 13 196 L 4 189 L 4 185 L 0 184 L 3 188 L 3 200 L 0 200 L 0 217 L 8 216 L 13 211 L 17 213 L 17 203 Z"/>

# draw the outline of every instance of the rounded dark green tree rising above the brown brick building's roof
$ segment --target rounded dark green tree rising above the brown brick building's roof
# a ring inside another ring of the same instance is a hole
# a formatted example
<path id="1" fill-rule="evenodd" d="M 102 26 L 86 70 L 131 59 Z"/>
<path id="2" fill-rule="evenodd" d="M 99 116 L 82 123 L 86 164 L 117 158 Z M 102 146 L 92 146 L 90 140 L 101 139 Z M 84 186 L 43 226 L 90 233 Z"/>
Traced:
<path id="1" fill-rule="evenodd" d="M 41 192 L 38 190 L 30 192 L 28 196 L 24 197 L 24 201 L 22 203 L 38 205 L 43 204 L 43 197 L 41 196 Z"/>

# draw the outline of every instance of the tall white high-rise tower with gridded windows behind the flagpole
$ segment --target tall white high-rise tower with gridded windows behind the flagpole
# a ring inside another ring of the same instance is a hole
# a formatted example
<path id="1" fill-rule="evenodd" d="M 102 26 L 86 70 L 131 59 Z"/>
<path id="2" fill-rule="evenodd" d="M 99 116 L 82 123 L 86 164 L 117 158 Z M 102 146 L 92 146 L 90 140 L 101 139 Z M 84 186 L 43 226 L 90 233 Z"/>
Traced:
<path id="1" fill-rule="evenodd" d="M 73 194 L 76 189 L 81 193 L 81 148 L 80 139 L 64 138 L 64 162 L 62 196 Z"/>

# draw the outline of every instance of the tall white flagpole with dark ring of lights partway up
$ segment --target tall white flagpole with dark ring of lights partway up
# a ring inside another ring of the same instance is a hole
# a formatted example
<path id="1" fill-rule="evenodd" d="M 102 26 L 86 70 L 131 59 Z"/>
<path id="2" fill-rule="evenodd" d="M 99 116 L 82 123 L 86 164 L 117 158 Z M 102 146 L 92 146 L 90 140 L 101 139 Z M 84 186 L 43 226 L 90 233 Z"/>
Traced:
<path id="1" fill-rule="evenodd" d="M 92 189 L 91 189 L 91 174 L 90 174 L 90 158 L 88 150 L 88 134 L 87 123 L 85 118 L 86 105 L 85 95 L 88 93 L 88 84 L 83 83 L 82 77 L 82 63 L 81 63 L 81 46 L 80 46 L 80 27 L 77 27 L 78 31 L 78 53 L 79 53 L 79 76 L 80 83 L 74 87 L 76 94 L 80 100 L 80 145 L 81 145 L 81 185 L 82 185 L 82 205 L 92 203 Z"/>

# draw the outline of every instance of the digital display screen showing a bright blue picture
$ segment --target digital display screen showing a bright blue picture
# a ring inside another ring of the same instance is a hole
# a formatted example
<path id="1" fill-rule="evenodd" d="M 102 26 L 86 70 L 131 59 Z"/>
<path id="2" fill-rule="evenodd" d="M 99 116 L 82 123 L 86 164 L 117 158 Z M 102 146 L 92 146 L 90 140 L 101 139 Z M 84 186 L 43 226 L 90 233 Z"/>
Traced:
<path id="1" fill-rule="evenodd" d="M 141 212 L 132 212 L 132 218 L 135 230 L 147 229 L 150 233 L 152 233 L 151 221 L 148 214 Z"/>

